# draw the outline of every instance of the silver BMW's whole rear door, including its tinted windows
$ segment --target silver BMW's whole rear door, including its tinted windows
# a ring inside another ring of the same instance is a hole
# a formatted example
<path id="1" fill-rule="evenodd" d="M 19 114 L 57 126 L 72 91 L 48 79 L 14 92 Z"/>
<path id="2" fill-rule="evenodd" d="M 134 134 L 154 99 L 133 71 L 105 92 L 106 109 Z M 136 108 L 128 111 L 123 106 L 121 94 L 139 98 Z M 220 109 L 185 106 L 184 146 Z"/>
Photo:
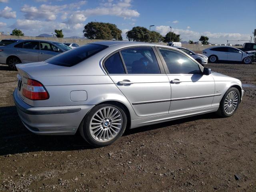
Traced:
<path id="1" fill-rule="evenodd" d="M 151 46 L 137 46 L 120 50 L 104 62 L 110 78 L 140 117 L 168 114 L 170 107 L 170 82 L 155 53 Z"/>

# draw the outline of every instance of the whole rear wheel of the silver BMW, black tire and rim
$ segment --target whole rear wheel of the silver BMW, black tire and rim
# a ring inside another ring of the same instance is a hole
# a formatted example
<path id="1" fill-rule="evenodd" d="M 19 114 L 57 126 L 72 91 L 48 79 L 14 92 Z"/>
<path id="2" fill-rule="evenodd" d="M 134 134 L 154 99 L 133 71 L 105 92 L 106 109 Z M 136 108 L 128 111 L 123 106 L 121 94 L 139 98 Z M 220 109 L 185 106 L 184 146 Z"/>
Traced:
<path id="1" fill-rule="evenodd" d="M 100 104 L 92 108 L 86 115 L 79 130 L 84 140 L 92 146 L 103 147 L 120 138 L 126 124 L 127 117 L 122 107 L 113 104 Z"/>

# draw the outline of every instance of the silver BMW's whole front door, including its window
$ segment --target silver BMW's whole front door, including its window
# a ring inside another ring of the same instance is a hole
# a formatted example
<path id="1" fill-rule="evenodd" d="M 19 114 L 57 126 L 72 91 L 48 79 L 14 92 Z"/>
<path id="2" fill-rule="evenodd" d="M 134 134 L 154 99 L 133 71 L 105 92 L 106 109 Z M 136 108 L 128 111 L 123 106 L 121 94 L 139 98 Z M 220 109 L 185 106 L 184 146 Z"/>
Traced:
<path id="1" fill-rule="evenodd" d="M 169 113 L 209 108 L 215 83 L 211 75 L 202 75 L 200 66 L 182 52 L 159 48 L 166 66 L 172 95 Z"/>

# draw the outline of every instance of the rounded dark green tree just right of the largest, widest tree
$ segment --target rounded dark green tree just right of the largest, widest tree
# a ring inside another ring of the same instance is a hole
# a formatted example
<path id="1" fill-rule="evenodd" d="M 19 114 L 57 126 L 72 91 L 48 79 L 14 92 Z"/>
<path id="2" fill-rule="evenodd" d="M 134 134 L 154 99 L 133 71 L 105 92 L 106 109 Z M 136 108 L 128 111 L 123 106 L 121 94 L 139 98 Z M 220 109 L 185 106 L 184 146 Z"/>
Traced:
<path id="1" fill-rule="evenodd" d="M 149 30 L 145 27 L 136 26 L 132 30 L 126 32 L 129 41 L 149 41 Z"/>

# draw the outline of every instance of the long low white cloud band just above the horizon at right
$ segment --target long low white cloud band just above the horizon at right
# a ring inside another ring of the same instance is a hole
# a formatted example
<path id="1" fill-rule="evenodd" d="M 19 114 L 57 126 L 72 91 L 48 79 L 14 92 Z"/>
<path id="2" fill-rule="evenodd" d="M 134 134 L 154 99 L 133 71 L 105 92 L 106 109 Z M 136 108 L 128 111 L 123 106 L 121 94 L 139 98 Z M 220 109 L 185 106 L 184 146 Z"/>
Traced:
<path id="1" fill-rule="evenodd" d="M 156 31 L 165 36 L 170 32 L 169 26 L 156 26 Z M 193 40 L 198 41 L 201 35 L 207 36 L 211 43 L 223 43 L 227 40 L 250 40 L 250 34 L 240 33 L 212 33 L 212 32 L 196 32 L 192 30 L 176 29 L 172 28 L 172 32 L 180 34 L 180 38 L 184 41 Z"/>

